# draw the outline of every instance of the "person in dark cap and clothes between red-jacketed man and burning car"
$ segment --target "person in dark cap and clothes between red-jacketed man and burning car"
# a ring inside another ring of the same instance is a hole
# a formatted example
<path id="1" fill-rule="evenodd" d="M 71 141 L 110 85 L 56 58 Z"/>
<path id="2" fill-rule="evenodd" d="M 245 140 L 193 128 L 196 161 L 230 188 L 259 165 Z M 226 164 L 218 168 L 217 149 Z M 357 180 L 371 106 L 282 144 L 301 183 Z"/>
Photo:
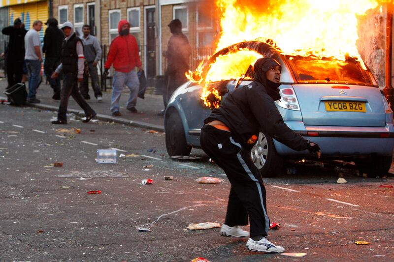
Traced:
<path id="1" fill-rule="evenodd" d="M 189 70 L 189 57 L 192 54 L 189 40 L 182 33 L 182 22 L 179 19 L 174 19 L 168 24 L 168 27 L 172 35 L 168 40 L 167 51 L 163 52 L 163 56 L 167 58 L 167 67 L 164 73 L 164 108 L 167 107 L 168 100 L 175 89 L 187 82 L 185 73 Z M 164 110 L 159 115 L 163 116 Z"/>

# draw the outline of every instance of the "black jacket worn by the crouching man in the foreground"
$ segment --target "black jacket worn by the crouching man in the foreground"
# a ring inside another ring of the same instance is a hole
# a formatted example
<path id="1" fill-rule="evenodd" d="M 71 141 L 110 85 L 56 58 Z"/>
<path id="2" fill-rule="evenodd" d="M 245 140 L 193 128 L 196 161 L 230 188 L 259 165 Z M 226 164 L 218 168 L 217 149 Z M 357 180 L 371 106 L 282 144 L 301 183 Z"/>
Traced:
<path id="1" fill-rule="evenodd" d="M 258 71 L 259 68 L 255 68 L 255 72 Z M 204 123 L 222 121 L 244 143 L 252 135 L 263 132 L 294 150 L 305 150 L 307 140 L 285 124 L 267 89 L 256 79 L 250 85 L 238 87 L 227 95 L 220 108 L 214 109 Z"/>

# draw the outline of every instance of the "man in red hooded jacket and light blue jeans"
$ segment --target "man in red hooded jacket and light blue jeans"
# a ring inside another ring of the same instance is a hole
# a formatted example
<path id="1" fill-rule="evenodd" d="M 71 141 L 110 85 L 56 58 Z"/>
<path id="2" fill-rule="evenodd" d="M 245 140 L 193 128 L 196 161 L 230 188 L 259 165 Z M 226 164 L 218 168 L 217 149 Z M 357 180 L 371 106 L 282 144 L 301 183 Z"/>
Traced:
<path id="1" fill-rule="evenodd" d="M 111 98 L 111 112 L 113 116 L 122 116 L 119 112 L 119 99 L 125 85 L 130 89 L 126 108 L 132 113 L 137 113 L 135 105 L 137 103 L 139 81 L 137 72 L 134 69 L 138 67 L 138 70 L 142 71 L 137 40 L 130 34 L 129 22 L 127 20 L 119 21 L 118 31 L 119 36 L 112 41 L 107 61 L 104 65 L 104 75 L 108 75 L 108 70 L 112 64 L 115 68 Z"/>

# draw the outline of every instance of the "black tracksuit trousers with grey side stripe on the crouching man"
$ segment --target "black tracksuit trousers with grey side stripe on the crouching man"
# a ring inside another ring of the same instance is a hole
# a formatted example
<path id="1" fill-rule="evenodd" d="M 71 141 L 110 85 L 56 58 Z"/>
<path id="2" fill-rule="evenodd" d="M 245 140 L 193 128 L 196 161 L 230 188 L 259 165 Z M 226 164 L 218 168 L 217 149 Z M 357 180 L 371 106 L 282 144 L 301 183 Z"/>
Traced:
<path id="1" fill-rule="evenodd" d="M 259 170 L 252 161 L 251 146 L 240 142 L 230 132 L 204 125 L 201 147 L 226 173 L 231 183 L 225 224 L 243 226 L 250 221 L 250 235 L 266 236 L 269 218 L 265 187 Z"/>

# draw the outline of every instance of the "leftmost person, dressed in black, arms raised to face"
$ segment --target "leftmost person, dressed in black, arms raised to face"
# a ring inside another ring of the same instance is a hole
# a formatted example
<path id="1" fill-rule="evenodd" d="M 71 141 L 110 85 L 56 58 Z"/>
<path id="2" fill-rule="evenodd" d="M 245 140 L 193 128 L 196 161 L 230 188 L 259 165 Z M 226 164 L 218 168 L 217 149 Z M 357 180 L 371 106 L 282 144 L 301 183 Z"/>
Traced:
<path id="1" fill-rule="evenodd" d="M 1 32 L 9 35 L 6 53 L 7 82 L 8 87 L 21 83 L 23 75 L 23 63 L 25 61 L 25 29 L 22 21 L 17 18 L 13 26 L 3 28 Z"/>

